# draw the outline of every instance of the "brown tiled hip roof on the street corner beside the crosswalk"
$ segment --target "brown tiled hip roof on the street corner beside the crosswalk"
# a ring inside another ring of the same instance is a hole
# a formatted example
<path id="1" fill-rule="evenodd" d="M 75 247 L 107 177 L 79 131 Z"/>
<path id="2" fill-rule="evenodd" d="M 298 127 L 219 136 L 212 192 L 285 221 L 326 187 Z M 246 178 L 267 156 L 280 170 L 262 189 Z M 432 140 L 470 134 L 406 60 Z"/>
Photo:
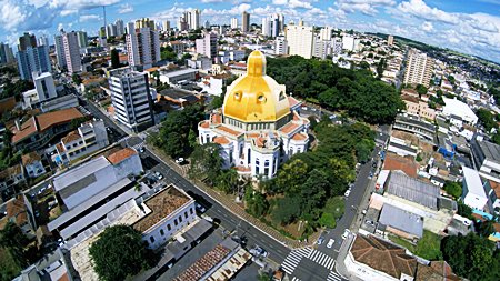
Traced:
<path id="1" fill-rule="evenodd" d="M 357 235 L 350 250 L 357 262 L 384 272 L 396 279 L 404 273 L 414 277 L 417 260 L 406 250 L 373 235 Z"/>

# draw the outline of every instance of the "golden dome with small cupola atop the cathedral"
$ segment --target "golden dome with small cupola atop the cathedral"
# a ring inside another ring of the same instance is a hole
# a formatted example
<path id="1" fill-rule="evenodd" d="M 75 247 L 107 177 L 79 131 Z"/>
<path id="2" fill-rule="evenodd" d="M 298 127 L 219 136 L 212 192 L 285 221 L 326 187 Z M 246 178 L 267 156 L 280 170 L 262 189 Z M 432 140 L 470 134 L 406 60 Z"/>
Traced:
<path id="1" fill-rule="evenodd" d="M 290 113 L 284 86 L 266 76 L 266 57 L 253 51 L 248 57 L 247 74 L 228 86 L 222 110 L 226 117 L 242 122 L 272 122 Z"/>

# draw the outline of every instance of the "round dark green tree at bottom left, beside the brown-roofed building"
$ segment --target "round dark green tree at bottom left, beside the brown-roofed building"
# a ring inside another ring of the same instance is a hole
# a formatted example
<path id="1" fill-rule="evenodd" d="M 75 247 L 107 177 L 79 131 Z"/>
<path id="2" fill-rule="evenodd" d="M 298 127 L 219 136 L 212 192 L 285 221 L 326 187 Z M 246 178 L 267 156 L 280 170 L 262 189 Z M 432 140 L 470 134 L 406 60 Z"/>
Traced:
<path id="1" fill-rule="evenodd" d="M 157 254 L 147 249 L 141 232 L 129 225 L 107 228 L 89 252 L 93 269 L 104 281 L 126 280 L 157 261 Z"/>

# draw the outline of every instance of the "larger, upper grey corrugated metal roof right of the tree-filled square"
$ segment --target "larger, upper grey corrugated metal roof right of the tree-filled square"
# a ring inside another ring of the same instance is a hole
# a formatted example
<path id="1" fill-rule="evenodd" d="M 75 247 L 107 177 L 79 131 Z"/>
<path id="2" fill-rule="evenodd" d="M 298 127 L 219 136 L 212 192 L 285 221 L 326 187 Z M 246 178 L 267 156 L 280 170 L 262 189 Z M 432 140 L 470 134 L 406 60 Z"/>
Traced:
<path id="1" fill-rule="evenodd" d="M 389 194 L 438 210 L 439 188 L 410 178 L 401 171 L 392 171 L 387 185 Z"/>

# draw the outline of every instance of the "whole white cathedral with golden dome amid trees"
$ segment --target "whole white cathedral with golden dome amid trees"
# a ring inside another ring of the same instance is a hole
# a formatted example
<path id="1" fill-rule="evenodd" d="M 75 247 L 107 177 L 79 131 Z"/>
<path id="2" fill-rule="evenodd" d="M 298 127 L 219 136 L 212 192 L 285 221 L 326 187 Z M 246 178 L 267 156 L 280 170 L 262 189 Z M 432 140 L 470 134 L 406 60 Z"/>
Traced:
<path id="1" fill-rule="evenodd" d="M 221 109 L 198 124 L 199 142 L 221 145 L 223 168 L 242 177 L 273 178 L 278 167 L 309 143 L 300 102 L 266 74 L 266 57 L 253 51 L 247 73 L 228 86 Z"/>

